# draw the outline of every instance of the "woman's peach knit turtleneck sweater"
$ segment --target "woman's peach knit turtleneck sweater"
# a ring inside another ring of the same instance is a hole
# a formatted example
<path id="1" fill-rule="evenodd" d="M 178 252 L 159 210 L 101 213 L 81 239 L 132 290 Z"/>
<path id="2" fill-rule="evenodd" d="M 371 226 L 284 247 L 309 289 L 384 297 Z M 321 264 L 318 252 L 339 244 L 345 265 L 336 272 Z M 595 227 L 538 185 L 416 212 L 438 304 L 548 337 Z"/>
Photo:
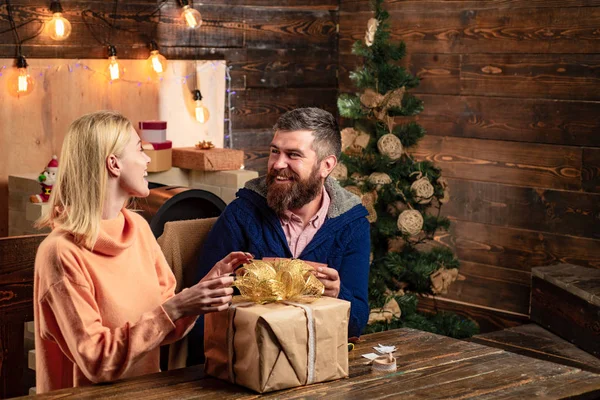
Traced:
<path id="1" fill-rule="evenodd" d="M 171 321 L 161 304 L 175 278 L 148 223 L 123 209 L 103 220 L 93 250 L 55 229 L 35 260 L 37 393 L 159 371 L 159 346 L 196 318 Z"/>

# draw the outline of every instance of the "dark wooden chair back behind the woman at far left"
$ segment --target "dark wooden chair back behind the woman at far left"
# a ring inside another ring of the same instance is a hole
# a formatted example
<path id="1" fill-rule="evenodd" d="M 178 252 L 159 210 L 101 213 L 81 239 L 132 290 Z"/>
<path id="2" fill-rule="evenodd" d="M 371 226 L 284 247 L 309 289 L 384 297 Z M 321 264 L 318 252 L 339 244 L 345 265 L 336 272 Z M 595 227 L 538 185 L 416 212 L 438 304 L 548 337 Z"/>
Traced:
<path id="1" fill-rule="evenodd" d="M 27 394 L 24 330 L 33 321 L 33 265 L 45 237 L 0 238 L 0 398 Z"/>

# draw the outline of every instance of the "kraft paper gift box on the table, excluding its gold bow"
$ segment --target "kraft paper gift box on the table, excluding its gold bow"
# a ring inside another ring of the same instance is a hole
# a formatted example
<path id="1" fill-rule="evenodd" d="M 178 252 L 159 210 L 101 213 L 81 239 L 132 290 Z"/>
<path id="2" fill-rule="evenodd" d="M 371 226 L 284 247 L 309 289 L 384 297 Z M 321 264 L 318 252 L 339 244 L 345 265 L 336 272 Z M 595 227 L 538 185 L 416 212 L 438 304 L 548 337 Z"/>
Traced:
<path id="1" fill-rule="evenodd" d="M 249 303 L 205 315 L 207 374 L 264 393 L 348 376 L 350 303 Z"/>

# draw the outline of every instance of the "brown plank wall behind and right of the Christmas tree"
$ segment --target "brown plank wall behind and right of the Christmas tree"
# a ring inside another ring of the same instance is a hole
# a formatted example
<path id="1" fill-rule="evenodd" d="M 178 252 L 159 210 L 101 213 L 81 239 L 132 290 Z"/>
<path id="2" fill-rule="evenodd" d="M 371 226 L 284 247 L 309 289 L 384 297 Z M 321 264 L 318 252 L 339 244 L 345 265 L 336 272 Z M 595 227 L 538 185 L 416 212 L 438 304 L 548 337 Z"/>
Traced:
<path id="1" fill-rule="evenodd" d="M 530 269 L 600 268 L 600 0 L 390 0 L 392 37 L 422 78 L 414 150 L 452 195 L 445 214 L 467 278 L 426 308 L 482 330 L 527 319 Z M 372 16 L 340 3 L 340 91 Z"/>

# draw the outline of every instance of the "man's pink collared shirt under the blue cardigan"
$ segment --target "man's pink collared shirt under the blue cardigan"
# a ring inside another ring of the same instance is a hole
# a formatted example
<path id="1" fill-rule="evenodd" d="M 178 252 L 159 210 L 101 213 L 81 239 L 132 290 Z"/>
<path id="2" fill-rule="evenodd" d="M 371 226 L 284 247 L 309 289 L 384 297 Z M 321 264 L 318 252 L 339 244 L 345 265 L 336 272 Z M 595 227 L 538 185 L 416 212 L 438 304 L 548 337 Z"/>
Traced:
<path id="1" fill-rule="evenodd" d="M 323 198 L 321 200 L 321 208 L 319 208 L 319 211 L 317 211 L 317 213 L 308 221 L 306 227 L 302 226 L 302 219 L 289 210 L 287 210 L 285 215 L 279 219 L 294 258 L 300 256 L 312 238 L 315 237 L 317 231 L 325 223 L 331 199 L 324 187 L 322 193 Z"/>

